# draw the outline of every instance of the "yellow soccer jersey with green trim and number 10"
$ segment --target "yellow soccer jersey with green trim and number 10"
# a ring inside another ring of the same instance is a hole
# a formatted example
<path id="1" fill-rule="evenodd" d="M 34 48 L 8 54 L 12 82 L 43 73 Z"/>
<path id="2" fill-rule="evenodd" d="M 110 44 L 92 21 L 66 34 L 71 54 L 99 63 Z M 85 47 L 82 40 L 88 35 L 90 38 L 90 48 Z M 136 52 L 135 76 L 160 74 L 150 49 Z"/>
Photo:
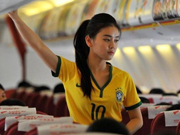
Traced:
<path id="1" fill-rule="evenodd" d="M 83 96 L 80 87 L 81 76 L 76 63 L 58 57 L 56 73 L 52 74 L 54 77 L 59 77 L 64 84 L 67 105 L 74 122 L 89 125 L 103 117 L 122 121 L 122 106 L 126 110 L 131 110 L 141 105 L 129 74 L 111 64 L 110 66 L 110 78 L 102 88 L 91 74 L 94 90 L 91 92 L 90 100 Z"/>

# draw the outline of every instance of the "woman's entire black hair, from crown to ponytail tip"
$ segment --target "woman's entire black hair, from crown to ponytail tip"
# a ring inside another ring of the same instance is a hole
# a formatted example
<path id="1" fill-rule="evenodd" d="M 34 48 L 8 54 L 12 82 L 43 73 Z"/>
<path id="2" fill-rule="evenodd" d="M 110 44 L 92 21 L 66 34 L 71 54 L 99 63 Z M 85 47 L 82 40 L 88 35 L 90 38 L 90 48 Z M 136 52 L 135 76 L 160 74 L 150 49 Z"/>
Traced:
<path id="1" fill-rule="evenodd" d="M 96 14 L 91 20 L 82 22 L 74 36 L 75 61 L 81 72 L 81 88 L 84 96 L 90 99 L 93 86 L 90 78 L 90 69 L 87 64 L 90 49 L 86 44 L 85 37 L 88 35 L 91 39 L 95 39 L 101 29 L 109 26 L 115 26 L 121 32 L 116 20 L 111 15 L 106 13 Z"/>

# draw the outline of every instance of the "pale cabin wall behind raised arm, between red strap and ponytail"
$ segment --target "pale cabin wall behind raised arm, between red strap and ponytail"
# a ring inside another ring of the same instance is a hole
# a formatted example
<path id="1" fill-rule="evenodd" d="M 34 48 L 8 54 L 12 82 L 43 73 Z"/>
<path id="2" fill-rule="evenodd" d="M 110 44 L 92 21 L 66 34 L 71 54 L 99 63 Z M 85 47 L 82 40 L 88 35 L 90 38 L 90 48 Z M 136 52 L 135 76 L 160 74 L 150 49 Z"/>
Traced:
<path id="1" fill-rule="evenodd" d="M 68 41 L 69 42 L 69 41 Z M 72 43 L 72 42 L 71 42 Z M 68 60 L 74 61 L 74 50 L 72 44 L 66 42 L 45 43 L 56 55 L 60 55 Z M 42 62 L 36 53 L 28 48 L 26 56 L 27 61 L 27 79 L 33 84 L 47 84 L 51 88 L 61 82 L 51 74 L 51 70 Z"/>

